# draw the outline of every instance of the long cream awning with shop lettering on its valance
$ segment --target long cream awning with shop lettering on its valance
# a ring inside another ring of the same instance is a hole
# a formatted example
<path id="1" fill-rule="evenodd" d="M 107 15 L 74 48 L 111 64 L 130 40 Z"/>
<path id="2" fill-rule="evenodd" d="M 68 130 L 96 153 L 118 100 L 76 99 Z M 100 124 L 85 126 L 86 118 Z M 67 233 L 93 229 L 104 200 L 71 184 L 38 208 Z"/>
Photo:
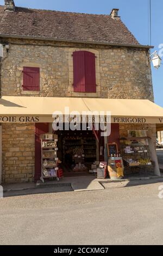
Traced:
<path id="1" fill-rule="evenodd" d="M 163 108 L 149 100 L 33 96 L 3 96 L 0 99 L 0 122 L 12 121 L 7 118 L 14 116 L 13 121 L 19 121 L 18 117 L 22 117 L 22 121 L 35 121 L 35 117 L 39 117 L 39 122 L 52 122 L 53 112 L 60 111 L 65 114 L 65 107 L 69 107 L 70 112 L 78 111 L 80 114 L 83 111 L 110 111 L 112 123 L 142 121 L 163 125 Z"/>

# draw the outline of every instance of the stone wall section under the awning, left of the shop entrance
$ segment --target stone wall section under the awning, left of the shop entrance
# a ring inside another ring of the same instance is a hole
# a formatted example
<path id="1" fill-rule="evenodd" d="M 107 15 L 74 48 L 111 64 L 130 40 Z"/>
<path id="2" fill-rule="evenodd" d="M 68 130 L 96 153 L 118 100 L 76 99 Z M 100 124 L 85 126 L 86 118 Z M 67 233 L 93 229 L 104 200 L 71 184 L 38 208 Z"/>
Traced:
<path id="1" fill-rule="evenodd" d="M 2 124 L 2 181 L 33 181 L 35 125 Z"/>

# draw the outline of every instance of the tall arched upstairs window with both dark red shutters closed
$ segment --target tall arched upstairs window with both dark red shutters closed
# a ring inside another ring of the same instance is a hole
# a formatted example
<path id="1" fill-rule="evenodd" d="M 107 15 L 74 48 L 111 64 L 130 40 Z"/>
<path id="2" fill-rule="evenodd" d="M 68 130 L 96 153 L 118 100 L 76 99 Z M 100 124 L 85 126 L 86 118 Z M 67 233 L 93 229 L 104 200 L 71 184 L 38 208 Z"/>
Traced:
<path id="1" fill-rule="evenodd" d="M 78 93 L 96 93 L 95 54 L 87 51 L 73 52 L 73 88 Z"/>

